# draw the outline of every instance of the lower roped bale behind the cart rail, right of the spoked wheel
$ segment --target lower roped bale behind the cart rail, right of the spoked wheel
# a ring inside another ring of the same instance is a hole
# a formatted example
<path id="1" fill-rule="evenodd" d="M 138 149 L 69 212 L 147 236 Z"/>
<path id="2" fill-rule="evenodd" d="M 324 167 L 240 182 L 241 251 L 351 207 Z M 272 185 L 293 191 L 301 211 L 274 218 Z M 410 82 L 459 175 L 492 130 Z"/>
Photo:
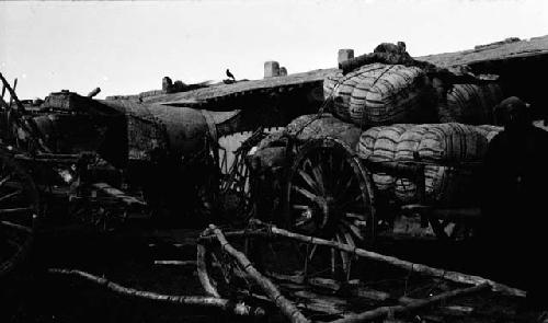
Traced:
<path id="1" fill-rule="evenodd" d="M 473 201 L 477 174 L 452 165 L 480 163 L 488 147 L 486 134 L 487 129 L 456 123 L 374 127 L 362 134 L 356 150 L 362 159 L 431 162 L 424 168 L 426 201 L 464 205 Z M 413 181 L 374 174 L 377 188 L 401 203 L 418 201 Z"/>

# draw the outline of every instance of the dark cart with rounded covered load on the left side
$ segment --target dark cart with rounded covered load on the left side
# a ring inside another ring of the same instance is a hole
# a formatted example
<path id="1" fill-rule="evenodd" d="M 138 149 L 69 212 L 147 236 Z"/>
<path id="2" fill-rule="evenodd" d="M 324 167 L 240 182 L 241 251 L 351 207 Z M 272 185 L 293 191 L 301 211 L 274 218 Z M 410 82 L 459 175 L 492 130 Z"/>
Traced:
<path id="1" fill-rule="evenodd" d="M 217 139 L 237 131 L 237 111 L 68 91 L 23 104 L 1 80 L 0 274 L 24 258 L 38 220 L 49 228 L 78 219 L 104 230 L 132 219 L 192 226 L 213 216 L 220 191 L 229 191 Z"/>

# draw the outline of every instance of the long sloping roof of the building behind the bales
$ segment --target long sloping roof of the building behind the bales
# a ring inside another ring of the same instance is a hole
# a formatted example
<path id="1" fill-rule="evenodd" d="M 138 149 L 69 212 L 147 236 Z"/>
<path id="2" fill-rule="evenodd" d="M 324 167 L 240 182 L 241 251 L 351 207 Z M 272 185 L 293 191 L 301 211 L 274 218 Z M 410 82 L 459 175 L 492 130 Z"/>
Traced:
<path id="1" fill-rule="evenodd" d="M 481 73 L 480 80 L 492 80 L 492 78 L 489 78 L 486 73 L 504 74 L 504 70 L 500 68 L 502 64 L 513 64 L 516 59 L 532 59 L 538 62 L 539 59 L 546 59 L 546 57 L 548 57 L 548 36 L 536 37 L 529 41 L 503 42 L 500 45 L 490 44 L 488 47 L 481 47 L 479 49 L 429 55 L 415 57 L 414 59 L 420 62 L 433 64 L 439 68 L 448 68 L 452 73 Z M 488 65 L 490 67 L 487 67 Z M 157 90 L 146 92 L 147 95 L 140 95 L 140 97 L 144 102 L 151 103 L 219 108 L 219 106 L 224 105 L 229 99 L 246 97 L 250 95 L 273 95 L 275 93 L 286 93 L 292 90 L 304 88 L 307 90 L 315 89 L 321 86 L 323 79 L 336 70 L 338 69 L 334 68 L 319 69 L 302 73 L 293 73 L 287 77 L 267 78 L 233 84 L 210 85 L 195 91 L 172 94 L 167 94 Z M 139 95 L 111 96 L 110 99 L 138 100 L 138 97 Z M 319 104 L 321 104 L 321 102 Z"/>

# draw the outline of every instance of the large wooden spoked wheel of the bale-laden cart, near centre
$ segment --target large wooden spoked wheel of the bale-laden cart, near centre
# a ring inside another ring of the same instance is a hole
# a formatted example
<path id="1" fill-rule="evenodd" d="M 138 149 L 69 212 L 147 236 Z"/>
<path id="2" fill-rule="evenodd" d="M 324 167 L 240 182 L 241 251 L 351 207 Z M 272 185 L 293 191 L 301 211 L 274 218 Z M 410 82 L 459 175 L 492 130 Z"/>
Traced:
<path id="1" fill-rule="evenodd" d="M 370 174 L 344 142 L 324 138 L 304 145 L 288 170 L 284 195 L 282 224 L 289 230 L 354 246 L 373 242 Z M 320 256 L 316 249 L 306 247 L 309 264 Z M 351 257 L 346 253 L 328 251 L 320 263 L 326 261 L 332 274 L 339 268 L 350 275 Z"/>

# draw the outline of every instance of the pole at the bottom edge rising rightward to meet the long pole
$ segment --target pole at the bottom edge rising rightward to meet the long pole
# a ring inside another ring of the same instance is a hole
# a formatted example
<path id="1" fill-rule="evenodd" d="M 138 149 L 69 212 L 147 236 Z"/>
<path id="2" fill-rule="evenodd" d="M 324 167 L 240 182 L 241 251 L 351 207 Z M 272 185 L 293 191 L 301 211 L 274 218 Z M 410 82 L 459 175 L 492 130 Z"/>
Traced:
<path id="1" fill-rule="evenodd" d="M 433 296 L 427 299 L 421 299 L 413 302 L 410 302 L 404 305 L 395 305 L 395 307 L 380 307 L 375 310 L 366 311 L 355 315 L 347 315 L 344 319 L 336 320 L 336 323 L 357 323 L 357 322 L 366 322 L 380 318 L 386 318 L 396 313 L 411 312 L 419 310 L 421 308 L 434 305 L 436 303 L 447 301 L 452 298 L 461 297 L 466 295 L 470 295 L 473 292 L 479 292 L 482 290 L 489 290 L 491 286 L 488 282 L 480 284 L 478 286 L 472 286 L 468 288 L 455 289 L 452 291 L 443 292 L 436 296 Z"/>

